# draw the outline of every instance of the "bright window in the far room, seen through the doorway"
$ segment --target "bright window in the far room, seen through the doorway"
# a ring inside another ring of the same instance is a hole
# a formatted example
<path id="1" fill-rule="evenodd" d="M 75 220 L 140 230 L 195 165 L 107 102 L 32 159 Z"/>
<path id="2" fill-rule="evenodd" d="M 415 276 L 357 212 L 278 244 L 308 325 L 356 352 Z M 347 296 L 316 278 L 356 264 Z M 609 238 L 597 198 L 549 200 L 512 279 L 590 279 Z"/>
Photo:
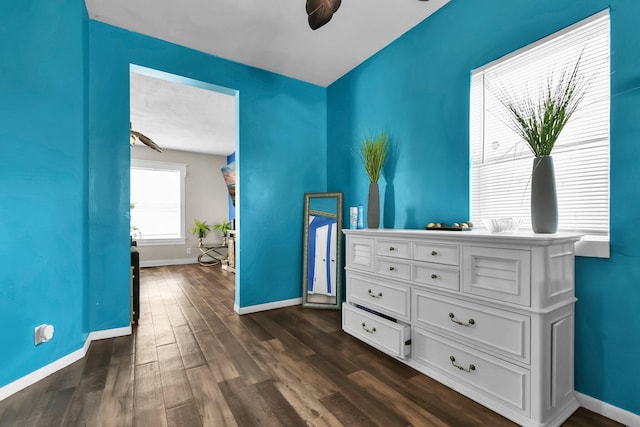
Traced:
<path id="1" fill-rule="evenodd" d="M 184 244 L 183 164 L 131 160 L 131 228 L 142 245 Z"/>

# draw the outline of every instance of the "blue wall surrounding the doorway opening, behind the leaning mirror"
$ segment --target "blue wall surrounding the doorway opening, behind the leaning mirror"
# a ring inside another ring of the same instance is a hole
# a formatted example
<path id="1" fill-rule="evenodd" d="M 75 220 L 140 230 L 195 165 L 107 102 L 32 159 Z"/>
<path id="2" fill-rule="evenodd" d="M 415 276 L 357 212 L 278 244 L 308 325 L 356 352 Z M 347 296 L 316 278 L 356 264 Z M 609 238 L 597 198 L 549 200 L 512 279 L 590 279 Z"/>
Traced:
<path id="1" fill-rule="evenodd" d="M 89 32 L 92 329 L 122 325 L 128 297 L 129 64 L 239 92 L 236 303 L 300 297 L 304 193 L 326 189 L 326 89 L 99 22 Z"/>

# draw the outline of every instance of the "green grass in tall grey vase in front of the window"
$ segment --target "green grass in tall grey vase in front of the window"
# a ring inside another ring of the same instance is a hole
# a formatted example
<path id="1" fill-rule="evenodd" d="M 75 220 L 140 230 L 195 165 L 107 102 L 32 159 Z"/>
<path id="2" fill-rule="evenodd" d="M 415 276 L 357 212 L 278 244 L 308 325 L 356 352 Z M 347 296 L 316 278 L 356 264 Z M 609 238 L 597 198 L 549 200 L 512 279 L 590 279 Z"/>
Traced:
<path id="1" fill-rule="evenodd" d="M 497 95 L 507 110 L 510 119 L 507 125 L 527 143 L 534 155 L 531 225 L 535 233 L 555 233 L 558 230 L 558 202 L 551 151 L 586 93 L 587 82 L 580 74 L 579 66 L 580 58 L 573 70 L 565 70 L 555 84 L 549 78 L 537 100 L 510 98 L 504 91 Z"/>

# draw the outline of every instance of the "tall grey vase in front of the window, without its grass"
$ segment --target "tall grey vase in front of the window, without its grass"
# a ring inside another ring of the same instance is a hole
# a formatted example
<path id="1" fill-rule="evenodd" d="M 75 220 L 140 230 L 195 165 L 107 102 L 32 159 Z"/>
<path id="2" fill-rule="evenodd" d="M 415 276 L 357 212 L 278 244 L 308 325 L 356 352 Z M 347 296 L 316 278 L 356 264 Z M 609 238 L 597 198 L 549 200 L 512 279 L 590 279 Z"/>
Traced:
<path id="1" fill-rule="evenodd" d="M 558 196 L 551 156 L 533 159 L 531 226 L 534 233 L 555 233 L 558 231 Z"/>

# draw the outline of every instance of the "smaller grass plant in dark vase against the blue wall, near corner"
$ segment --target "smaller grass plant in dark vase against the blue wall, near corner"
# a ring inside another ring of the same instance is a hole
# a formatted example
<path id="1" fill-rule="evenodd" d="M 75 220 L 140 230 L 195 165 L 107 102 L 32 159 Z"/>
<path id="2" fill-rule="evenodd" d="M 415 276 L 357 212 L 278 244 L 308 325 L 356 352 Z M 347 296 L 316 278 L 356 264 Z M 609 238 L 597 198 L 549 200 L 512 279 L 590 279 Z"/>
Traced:
<path id="1" fill-rule="evenodd" d="M 380 192 L 378 180 L 382 166 L 387 157 L 387 135 L 380 133 L 374 140 L 365 138 L 360 146 L 360 156 L 364 169 L 369 176 L 369 200 L 367 204 L 367 227 L 378 228 L 380 225 Z"/>

